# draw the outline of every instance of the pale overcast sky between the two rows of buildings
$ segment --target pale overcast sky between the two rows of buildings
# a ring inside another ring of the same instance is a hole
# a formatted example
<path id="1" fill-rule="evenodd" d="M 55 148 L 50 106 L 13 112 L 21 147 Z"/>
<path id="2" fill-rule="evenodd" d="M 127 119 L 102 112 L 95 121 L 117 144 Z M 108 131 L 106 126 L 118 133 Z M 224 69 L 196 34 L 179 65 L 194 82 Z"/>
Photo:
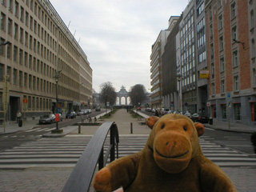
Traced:
<path id="1" fill-rule="evenodd" d="M 188 0 L 50 0 L 93 69 L 93 88 L 150 86 L 151 46 Z"/>

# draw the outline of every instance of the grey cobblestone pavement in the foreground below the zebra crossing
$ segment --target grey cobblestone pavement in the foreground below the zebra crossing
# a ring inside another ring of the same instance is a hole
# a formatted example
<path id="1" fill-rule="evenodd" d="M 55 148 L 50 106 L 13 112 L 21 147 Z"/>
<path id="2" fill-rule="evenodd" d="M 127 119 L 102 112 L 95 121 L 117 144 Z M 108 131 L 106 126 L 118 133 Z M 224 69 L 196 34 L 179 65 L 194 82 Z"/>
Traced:
<path id="1" fill-rule="evenodd" d="M 63 186 L 73 168 L 34 168 L 28 170 L 0 171 L 0 191 L 2 192 L 57 192 Z M 222 168 L 234 182 L 238 191 L 256 191 L 256 168 Z"/>

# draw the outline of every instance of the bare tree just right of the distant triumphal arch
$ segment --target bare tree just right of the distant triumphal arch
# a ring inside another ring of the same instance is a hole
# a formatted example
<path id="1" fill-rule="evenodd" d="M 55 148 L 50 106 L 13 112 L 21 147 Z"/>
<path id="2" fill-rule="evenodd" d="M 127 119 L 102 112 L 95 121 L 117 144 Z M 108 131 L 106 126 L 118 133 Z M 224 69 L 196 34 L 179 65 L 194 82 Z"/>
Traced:
<path id="1" fill-rule="evenodd" d="M 130 102 L 134 105 L 137 106 L 142 104 L 146 100 L 146 89 L 145 86 L 142 84 L 137 84 L 135 86 L 132 86 L 130 88 Z"/>

